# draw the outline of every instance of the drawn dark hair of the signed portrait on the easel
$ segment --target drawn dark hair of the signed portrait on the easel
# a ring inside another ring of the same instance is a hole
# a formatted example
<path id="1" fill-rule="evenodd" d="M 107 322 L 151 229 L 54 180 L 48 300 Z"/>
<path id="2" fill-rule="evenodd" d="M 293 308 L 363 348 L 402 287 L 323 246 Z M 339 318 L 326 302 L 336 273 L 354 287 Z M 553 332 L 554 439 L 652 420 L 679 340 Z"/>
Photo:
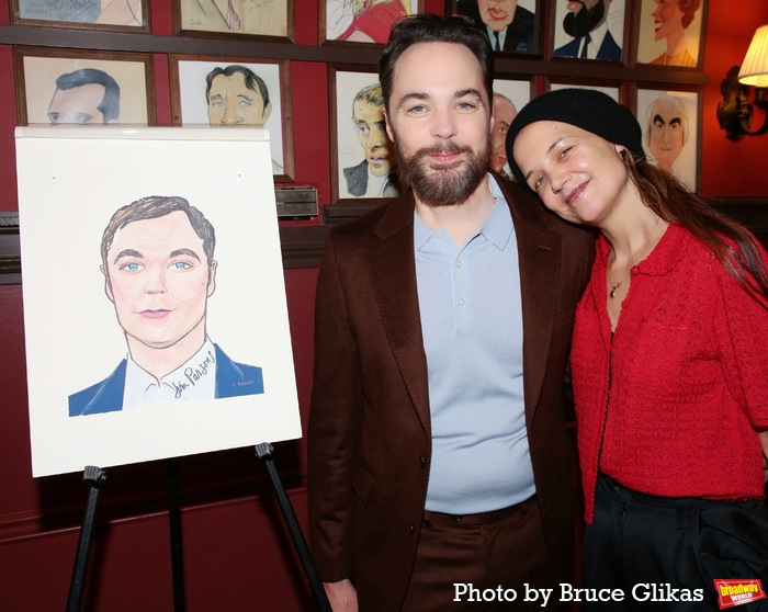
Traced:
<path id="1" fill-rule="evenodd" d="M 190 219 L 190 225 L 197 237 L 203 241 L 203 251 L 208 260 L 208 267 L 213 262 L 213 252 L 216 248 L 216 233 L 211 222 L 203 216 L 197 208 L 179 195 L 149 195 L 115 211 L 101 238 L 101 261 L 104 270 L 108 270 L 106 254 L 112 247 L 115 234 L 126 225 L 137 220 L 156 219 L 171 213 L 181 211 Z"/>

